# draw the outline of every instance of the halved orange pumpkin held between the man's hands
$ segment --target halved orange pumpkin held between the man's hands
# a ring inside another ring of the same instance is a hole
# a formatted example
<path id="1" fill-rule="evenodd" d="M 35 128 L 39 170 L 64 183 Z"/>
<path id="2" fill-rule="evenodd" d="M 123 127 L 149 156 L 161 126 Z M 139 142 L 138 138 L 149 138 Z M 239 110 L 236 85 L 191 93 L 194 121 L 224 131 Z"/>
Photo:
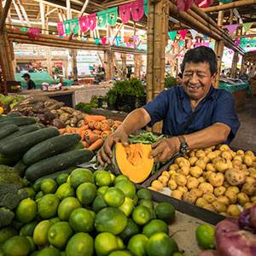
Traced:
<path id="1" fill-rule="evenodd" d="M 130 178 L 133 183 L 142 183 L 151 173 L 154 160 L 149 158 L 151 145 L 141 143 L 124 147 L 116 143 L 114 148 L 114 164 L 119 172 Z"/>

